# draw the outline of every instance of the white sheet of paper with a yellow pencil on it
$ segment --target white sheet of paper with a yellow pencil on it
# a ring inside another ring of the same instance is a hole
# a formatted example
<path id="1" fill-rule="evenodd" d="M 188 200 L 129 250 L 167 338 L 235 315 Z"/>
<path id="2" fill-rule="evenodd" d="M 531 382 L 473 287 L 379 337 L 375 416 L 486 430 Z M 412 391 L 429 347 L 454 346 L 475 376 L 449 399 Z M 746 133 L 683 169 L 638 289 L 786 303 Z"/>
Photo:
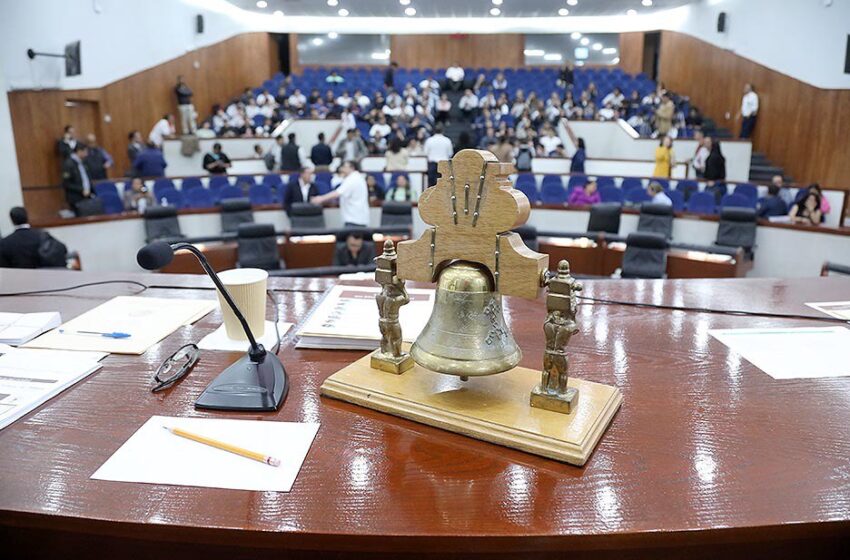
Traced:
<path id="1" fill-rule="evenodd" d="M 279 467 L 192 441 L 163 426 L 280 459 Z M 289 492 L 319 424 L 152 416 L 91 476 L 97 480 Z"/>

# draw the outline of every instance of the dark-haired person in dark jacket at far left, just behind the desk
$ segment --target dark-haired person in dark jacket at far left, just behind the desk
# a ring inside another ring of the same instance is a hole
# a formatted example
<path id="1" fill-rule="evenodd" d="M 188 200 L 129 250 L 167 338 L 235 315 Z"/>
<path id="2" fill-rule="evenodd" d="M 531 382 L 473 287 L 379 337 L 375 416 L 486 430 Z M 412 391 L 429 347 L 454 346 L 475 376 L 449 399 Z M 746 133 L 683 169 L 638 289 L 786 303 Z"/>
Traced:
<path id="1" fill-rule="evenodd" d="M 30 227 L 25 208 L 9 211 L 15 231 L 0 239 L 0 267 L 64 267 L 68 249 L 44 230 Z"/>

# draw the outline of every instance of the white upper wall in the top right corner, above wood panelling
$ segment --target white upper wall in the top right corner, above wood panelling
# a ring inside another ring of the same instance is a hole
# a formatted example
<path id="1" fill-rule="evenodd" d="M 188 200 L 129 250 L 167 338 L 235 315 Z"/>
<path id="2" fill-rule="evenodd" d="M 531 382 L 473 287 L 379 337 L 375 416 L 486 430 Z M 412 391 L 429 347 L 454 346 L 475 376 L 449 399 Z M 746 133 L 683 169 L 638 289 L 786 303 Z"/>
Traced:
<path id="1" fill-rule="evenodd" d="M 681 8 L 683 17 L 669 20 L 665 28 L 693 35 L 820 88 L 850 88 L 850 74 L 844 73 L 850 1 L 826 3 L 709 0 Z M 720 12 L 727 14 L 725 33 L 717 32 Z"/>

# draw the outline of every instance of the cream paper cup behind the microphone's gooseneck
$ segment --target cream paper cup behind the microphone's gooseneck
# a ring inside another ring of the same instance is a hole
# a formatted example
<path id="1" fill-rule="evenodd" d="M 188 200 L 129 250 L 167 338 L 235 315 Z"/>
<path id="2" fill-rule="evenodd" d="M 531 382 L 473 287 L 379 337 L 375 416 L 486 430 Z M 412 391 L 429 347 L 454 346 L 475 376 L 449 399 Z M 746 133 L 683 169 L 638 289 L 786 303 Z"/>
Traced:
<path id="1" fill-rule="evenodd" d="M 263 336 L 266 328 L 266 286 L 269 281 L 269 273 L 259 268 L 234 268 L 220 273 L 221 283 L 230 292 L 230 296 L 236 303 L 236 307 L 245 316 L 248 326 L 254 333 L 254 338 Z M 221 316 L 224 319 L 224 328 L 227 337 L 233 340 L 248 340 L 239 319 L 236 318 L 230 306 L 218 293 L 218 302 L 221 305 Z"/>

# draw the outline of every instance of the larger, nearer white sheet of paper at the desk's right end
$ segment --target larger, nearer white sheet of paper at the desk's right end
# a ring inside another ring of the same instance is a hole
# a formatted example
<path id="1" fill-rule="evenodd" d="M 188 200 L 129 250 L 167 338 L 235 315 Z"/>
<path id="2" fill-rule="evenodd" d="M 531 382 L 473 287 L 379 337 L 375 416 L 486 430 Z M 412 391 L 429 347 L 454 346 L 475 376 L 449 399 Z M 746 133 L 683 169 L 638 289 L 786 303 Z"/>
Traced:
<path id="1" fill-rule="evenodd" d="M 708 333 L 774 379 L 850 376 L 850 330 L 844 327 Z"/>

